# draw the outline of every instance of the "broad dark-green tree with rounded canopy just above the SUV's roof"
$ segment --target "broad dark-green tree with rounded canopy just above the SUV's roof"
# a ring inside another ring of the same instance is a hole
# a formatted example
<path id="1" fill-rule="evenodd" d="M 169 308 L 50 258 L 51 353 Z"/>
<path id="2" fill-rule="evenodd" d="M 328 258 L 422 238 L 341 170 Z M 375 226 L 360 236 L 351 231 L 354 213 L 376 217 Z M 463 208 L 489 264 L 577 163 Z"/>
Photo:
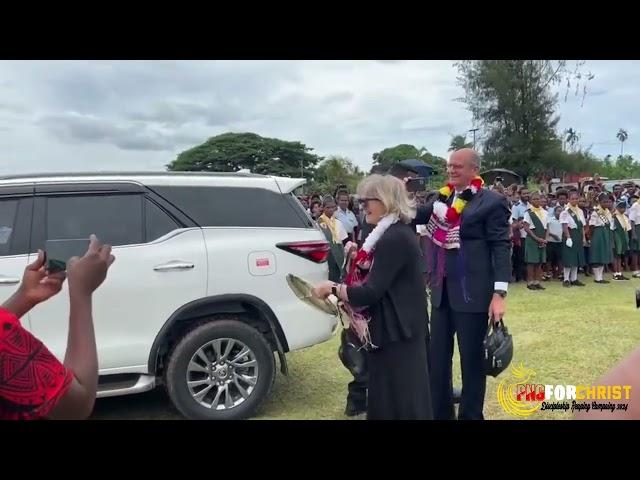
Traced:
<path id="1" fill-rule="evenodd" d="M 300 142 L 255 133 L 223 133 L 178 155 L 167 168 L 191 172 L 236 172 L 310 178 L 321 157 Z"/>

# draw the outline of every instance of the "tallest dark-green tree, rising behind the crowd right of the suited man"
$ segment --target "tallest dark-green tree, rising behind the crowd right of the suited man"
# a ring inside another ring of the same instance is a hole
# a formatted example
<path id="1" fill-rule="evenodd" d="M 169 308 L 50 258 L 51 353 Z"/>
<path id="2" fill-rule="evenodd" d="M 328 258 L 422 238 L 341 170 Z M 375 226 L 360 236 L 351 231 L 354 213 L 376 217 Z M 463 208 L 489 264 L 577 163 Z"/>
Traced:
<path id="1" fill-rule="evenodd" d="M 466 60 L 457 62 L 458 82 L 473 122 L 484 139 L 485 167 L 505 167 L 529 176 L 548 173 L 559 152 L 555 115 L 558 95 L 552 87 L 567 79 L 576 95 L 586 95 L 592 74 L 579 62 L 572 71 L 566 61 Z M 580 89 L 582 86 L 582 90 Z"/>

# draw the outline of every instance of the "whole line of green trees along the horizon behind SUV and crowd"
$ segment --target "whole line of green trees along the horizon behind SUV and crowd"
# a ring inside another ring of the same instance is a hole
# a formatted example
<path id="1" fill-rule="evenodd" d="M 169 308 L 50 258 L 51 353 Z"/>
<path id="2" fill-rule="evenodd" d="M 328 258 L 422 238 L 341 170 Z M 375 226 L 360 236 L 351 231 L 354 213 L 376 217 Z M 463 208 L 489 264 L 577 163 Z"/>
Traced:
<path id="1" fill-rule="evenodd" d="M 465 60 L 456 62 L 457 81 L 472 116 L 477 138 L 465 134 L 451 138 L 449 150 L 474 146 L 482 154 L 483 169 L 506 168 L 525 179 L 562 178 L 567 174 L 593 174 L 612 179 L 640 178 L 640 164 L 624 154 L 626 129 L 611 132 L 620 142 L 620 155 L 598 158 L 584 148 L 574 128 L 558 131 L 560 96 L 575 97 L 581 105 L 588 97 L 594 75 L 584 61 L 569 64 L 550 60 Z M 474 145 L 475 144 L 475 145 Z M 400 144 L 372 155 L 372 171 L 393 163 L 419 159 L 434 168 L 435 182 L 445 178 L 445 159 L 424 146 Z M 168 165 L 174 171 L 234 172 L 304 177 L 308 191 L 333 192 L 337 184 L 354 191 L 365 175 L 351 159 L 321 157 L 299 141 L 267 138 L 255 133 L 223 133 L 180 153 Z"/>

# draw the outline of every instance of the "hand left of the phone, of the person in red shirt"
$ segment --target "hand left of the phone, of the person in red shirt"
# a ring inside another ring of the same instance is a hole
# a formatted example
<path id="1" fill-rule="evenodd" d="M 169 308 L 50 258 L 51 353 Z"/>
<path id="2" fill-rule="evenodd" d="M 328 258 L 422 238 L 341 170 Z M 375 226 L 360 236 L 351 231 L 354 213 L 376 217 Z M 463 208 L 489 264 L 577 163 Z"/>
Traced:
<path id="1" fill-rule="evenodd" d="M 24 271 L 20 288 L 3 305 L 18 318 L 62 290 L 65 280 L 64 272 L 47 275 L 44 264 L 45 254 L 42 250 L 38 250 L 38 258 Z"/>

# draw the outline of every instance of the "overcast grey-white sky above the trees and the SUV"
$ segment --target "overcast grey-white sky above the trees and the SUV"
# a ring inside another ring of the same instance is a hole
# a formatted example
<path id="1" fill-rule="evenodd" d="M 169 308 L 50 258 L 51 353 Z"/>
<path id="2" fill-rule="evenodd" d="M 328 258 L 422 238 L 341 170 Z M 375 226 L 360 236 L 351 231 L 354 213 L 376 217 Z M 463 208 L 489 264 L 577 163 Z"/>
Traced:
<path id="1" fill-rule="evenodd" d="M 640 62 L 588 61 L 560 130 L 597 155 L 640 146 Z M 447 155 L 472 127 L 451 61 L 0 61 L 0 174 L 163 170 L 227 131 L 299 140 L 368 169 L 399 143 Z"/>

